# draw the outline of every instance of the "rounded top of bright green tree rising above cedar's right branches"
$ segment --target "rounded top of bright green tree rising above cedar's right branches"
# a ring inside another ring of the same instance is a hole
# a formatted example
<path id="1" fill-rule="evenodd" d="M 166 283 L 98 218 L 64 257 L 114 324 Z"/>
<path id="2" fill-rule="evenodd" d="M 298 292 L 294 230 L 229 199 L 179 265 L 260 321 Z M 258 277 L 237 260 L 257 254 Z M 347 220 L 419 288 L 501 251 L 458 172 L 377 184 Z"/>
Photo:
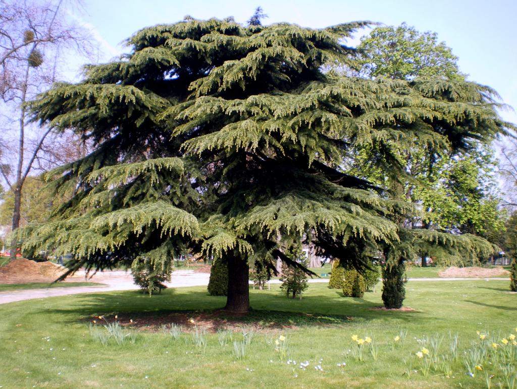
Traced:
<path id="1" fill-rule="evenodd" d="M 438 42 L 436 33 L 420 33 L 405 23 L 374 28 L 358 48 L 364 51 L 362 71 L 369 77 L 464 78 L 458 69 L 458 57 L 445 42 Z"/>

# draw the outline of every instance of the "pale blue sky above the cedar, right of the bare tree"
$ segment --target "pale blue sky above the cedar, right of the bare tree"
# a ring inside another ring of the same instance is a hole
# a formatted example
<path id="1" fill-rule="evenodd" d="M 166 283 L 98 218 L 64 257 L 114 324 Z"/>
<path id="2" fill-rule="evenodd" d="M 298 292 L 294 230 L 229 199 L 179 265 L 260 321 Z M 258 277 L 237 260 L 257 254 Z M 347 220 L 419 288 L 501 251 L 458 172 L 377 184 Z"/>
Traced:
<path id="1" fill-rule="evenodd" d="M 369 20 L 386 25 L 406 22 L 419 31 L 436 31 L 460 58 L 460 69 L 470 80 L 493 87 L 517 109 L 517 2 L 512 0 L 85 0 L 86 13 L 79 18 L 103 41 L 101 59 L 107 60 L 122 50 L 121 41 L 145 26 L 174 23 L 187 14 L 197 19 L 233 16 L 244 23 L 259 5 L 269 15 L 264 24 L 290 22 L 318 28 Z M 515 112 L 503 111 L 501 116 L 517 123 Z"/>

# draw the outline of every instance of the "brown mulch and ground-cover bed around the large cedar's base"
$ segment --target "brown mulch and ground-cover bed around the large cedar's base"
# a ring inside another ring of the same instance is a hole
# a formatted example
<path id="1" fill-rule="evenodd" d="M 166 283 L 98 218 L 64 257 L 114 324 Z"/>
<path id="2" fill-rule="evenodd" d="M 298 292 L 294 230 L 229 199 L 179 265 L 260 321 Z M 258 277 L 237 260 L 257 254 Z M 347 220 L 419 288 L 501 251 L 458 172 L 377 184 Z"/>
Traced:
<path id="1" fill-rule="evenodd" d="M 204 328 L 207 332 L 219 330 L 241 331 L 253 329 L 267 332 L 269 330 L 296 329 L 302 326 L 336 326 L 345 325 L 354 317 L 339 315 L 305 314 L 278 311 L 250 311 L 248 314 L 233 314 L 224 310 L 214 311 L 176 311 L 153 313 L 120 313 L 115 319 L 114 313 L 95 315 L 88 322 L 105 325 L 117 321 L 120 326 L 134 328 L 144 332 L 168 331 L 172 324 L 182 327 L 183 332 L 193 332 Z"/>

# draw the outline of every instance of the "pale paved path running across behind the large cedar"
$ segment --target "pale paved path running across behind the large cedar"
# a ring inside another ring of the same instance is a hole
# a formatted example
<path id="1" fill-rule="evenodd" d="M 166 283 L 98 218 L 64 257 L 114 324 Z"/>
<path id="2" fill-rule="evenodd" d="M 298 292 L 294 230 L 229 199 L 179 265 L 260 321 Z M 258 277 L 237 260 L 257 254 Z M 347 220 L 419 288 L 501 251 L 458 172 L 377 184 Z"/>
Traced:
<path id="1" fill-rule="evenodd" d="M 76 273 L 76 275 L 81 275 Z M 167 284 L 169 287 L 181 286 L 203 286 L 208 285 L 208 273 L 195 273 L 193 270 L 176 270 L 172 274 L 172 281 Z M 509 278 L 410 278 L 408 281 L 509 281 Z M 58 287 L 45 289 L 28 289 L 0 292 L 0 304 L 8 302 L 39 299 L 45 297 L 76 295 L 80 293 L 95 293 L 113 290 L 138 289 L 133 283 L 130 272 L 126 271 L 104 271 L 94 275 L 92 282 L 105 284 L 106 286 L 79 286 L 79 287 Z M 279 284 L 280 280 L 271 280 L 271 284 Z M 325 278 L 309 279 L 310 283 L 328 282 Z"/>

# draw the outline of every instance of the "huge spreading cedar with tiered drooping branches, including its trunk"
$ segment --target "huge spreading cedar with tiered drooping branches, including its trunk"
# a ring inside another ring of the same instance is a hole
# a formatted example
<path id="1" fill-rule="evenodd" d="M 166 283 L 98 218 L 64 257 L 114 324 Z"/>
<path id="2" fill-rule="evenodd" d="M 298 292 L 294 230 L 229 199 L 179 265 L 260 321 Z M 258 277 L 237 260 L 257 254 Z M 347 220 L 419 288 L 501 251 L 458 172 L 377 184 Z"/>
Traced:
<path id="1" fill-rule="evenodd" d="M 73 253 L 71 271 L 166 268 L 188 247 L 227 264 L 234 311 L 249 309 L 248 265 L 272 269 L 280 257 L 299 266 L 284 252 L 300 239 L 356 268 L 378 250 L 405 255 L 405 205 L 349 174 L 347 158 L 372 145 L 372 163 L 400 177 L 405 143 L 467 148 L 506 124 L 493 91 L 474 83 L 328 71 L 356 66 L 344 42 L 364 24 L 186 18 L 139 31 L 130 54 L 40 95 L 36 120 L 73 128 L 95 147 L 49 175 L 74 196 L 25 229 L 24 245 Z M 480 247 L 433 233 L 424 240 Z"/>

